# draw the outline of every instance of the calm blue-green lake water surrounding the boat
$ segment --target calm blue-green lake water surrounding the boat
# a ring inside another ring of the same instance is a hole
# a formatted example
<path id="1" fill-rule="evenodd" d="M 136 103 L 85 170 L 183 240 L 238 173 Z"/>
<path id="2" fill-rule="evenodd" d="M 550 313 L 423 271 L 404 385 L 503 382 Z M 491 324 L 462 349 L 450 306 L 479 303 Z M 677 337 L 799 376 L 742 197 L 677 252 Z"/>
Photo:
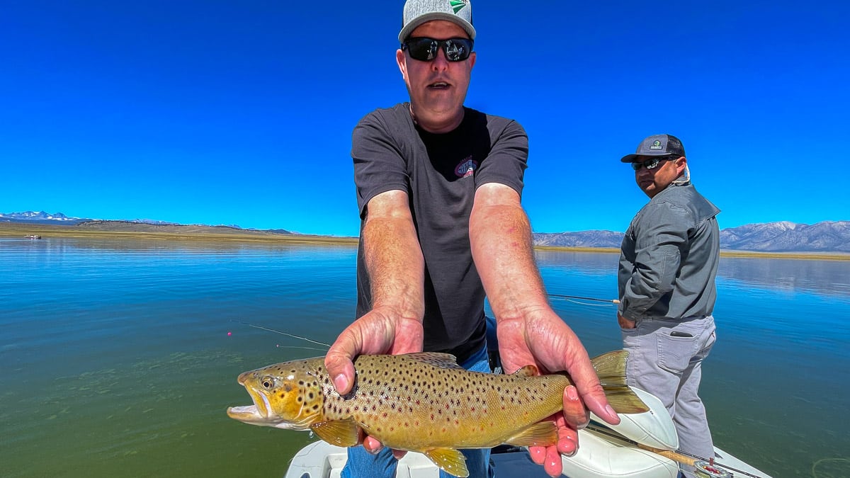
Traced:
<path id="1" fill-rule="evenodd" d="M 282 476 L 303 432 L 226 416 L 236 376 L 323 355 L 350 247 L 0 240 L 0 475 Z M 541 252 L 549 293 L 615 299 L 617 255 Z M 723 258 L 701 395 L 717 446 L 774 476 L 850 476 L 850 262 Z M 553 299 L 591 355 L 613 304 Z"/>

